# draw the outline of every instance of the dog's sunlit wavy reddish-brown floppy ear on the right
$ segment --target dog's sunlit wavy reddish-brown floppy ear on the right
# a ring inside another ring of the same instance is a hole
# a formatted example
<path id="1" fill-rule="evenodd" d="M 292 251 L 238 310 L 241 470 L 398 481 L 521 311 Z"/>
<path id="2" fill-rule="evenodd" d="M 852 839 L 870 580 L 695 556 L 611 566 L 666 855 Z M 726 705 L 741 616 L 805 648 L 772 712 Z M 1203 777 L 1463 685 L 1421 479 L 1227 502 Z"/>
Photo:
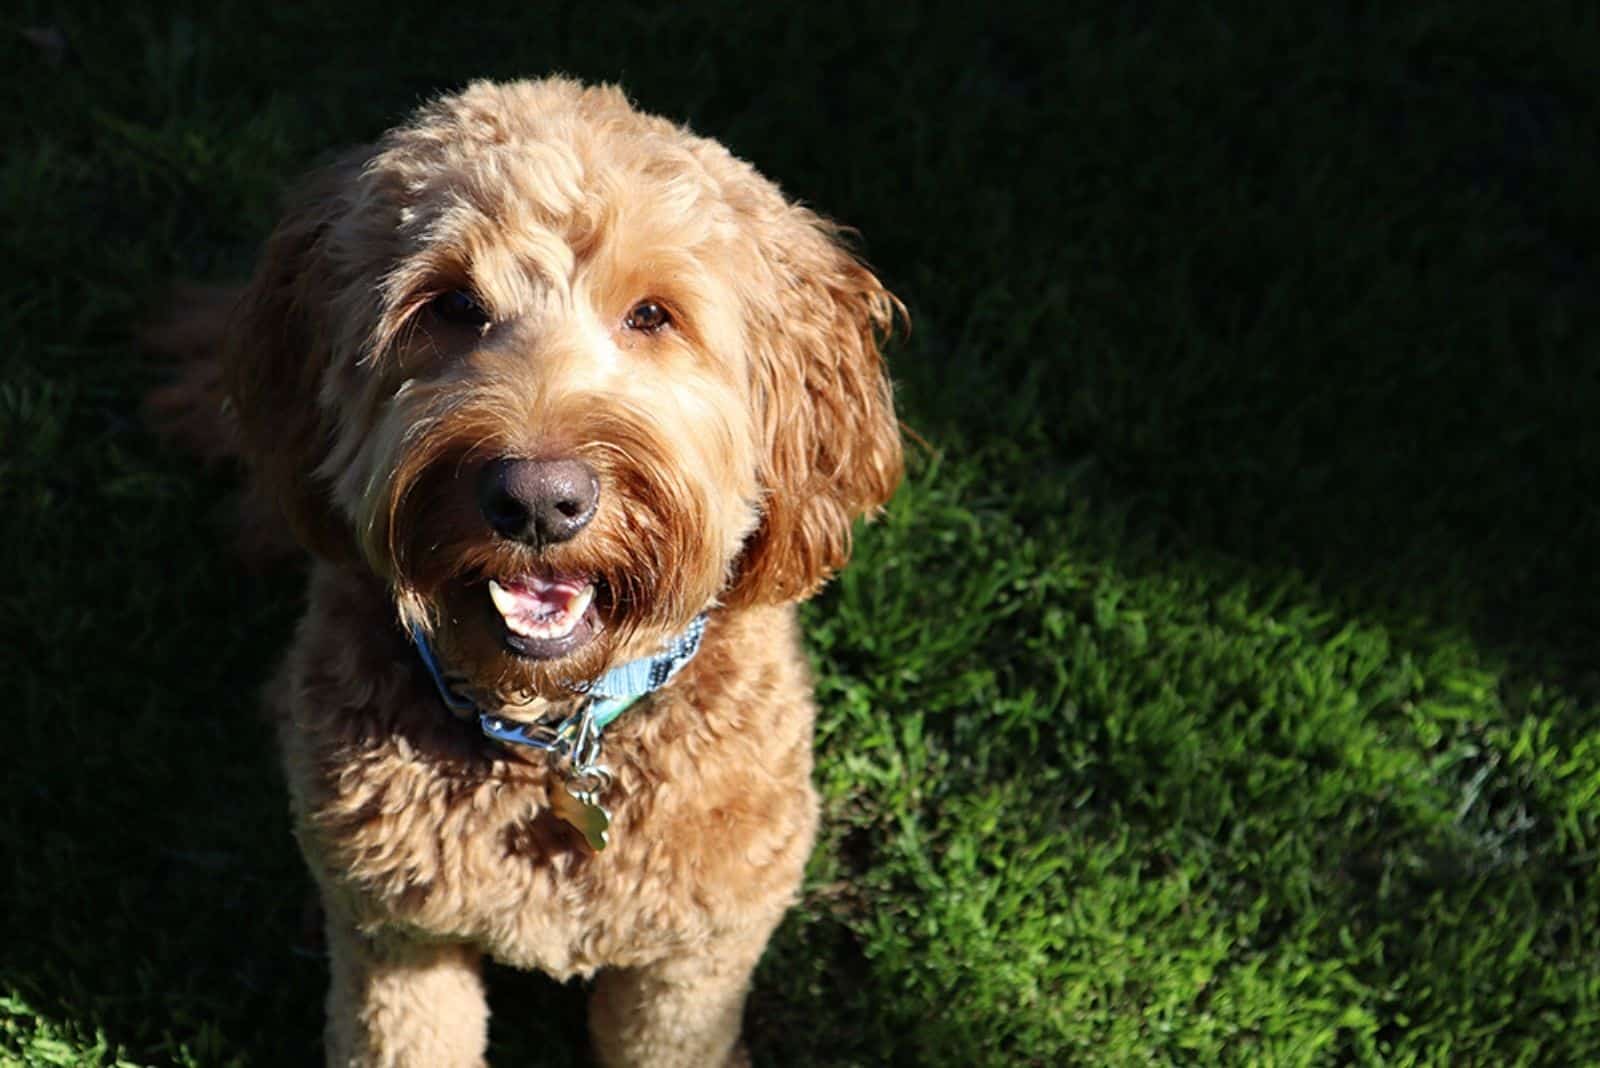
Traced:
<path id="1" fill-rule="evenodd" d="M 747 345 L 763 500 L 730 604 L 814 593 L 848 560 L 851 523 L 890 499 L 902 470 L 878 345 L 904 309 L 810 211 L 786 205 L 760 229 L 771 293 L 747 315 Z"/>

